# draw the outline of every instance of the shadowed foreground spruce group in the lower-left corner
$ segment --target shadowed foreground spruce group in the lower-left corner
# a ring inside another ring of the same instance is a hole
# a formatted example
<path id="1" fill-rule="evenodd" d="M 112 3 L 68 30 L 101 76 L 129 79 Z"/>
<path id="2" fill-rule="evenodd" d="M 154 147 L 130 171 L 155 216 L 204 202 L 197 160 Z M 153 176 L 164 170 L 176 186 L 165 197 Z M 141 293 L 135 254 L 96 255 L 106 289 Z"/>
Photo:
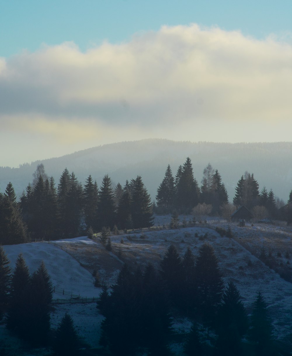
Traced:
<path id="1" fill-rule="evenodd" d="M 11 271 L 0 246 L 0 321 L 33 347 L 49 346 L 57 355 L 75 355 L 81 344 L 71 316 L 66 313 L 58 328 L 51 330 L 52 296 L 53 286 L 44 262 L 30 274 L 20 254 Z M 5 349 L 1 352 L 5 355 Z"/>

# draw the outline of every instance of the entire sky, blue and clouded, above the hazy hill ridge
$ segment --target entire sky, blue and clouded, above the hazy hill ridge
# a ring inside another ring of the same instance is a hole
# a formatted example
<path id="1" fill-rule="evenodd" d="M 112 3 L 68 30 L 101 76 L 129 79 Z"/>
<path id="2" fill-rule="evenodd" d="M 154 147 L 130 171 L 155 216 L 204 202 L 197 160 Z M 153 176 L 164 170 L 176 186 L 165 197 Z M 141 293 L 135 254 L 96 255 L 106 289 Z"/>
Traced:
<path id="1" fill-rule="evenodd" d="M 291 141 L 292 1 L 0 11 L 0 166 L 142 138 Z"/>

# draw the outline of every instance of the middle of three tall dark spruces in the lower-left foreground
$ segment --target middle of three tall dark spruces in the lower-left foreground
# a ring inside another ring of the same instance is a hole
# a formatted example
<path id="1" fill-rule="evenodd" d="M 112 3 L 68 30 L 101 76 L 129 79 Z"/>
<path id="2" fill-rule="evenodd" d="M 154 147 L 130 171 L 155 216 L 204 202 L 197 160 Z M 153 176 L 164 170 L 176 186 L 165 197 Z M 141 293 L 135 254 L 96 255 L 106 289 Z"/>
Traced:
<path id="1" fill-rule="evenodd" d="M 15 269 L 11 279 L 11 292 L 9 309 L 6 319 L 7 329 L 14 331 L 17 335 L 27 335 L 27 321 L 30 313 L 27 305 L 30 300 L 30 274 L 24 257 L 17 257 Z"/>

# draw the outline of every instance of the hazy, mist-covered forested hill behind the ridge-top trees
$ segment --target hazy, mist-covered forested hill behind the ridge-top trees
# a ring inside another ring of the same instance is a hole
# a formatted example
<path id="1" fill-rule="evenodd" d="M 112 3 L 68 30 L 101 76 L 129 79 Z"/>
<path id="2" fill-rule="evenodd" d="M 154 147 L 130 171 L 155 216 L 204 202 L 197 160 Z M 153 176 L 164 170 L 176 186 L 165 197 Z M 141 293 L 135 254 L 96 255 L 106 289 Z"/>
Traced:
<path id="1" fill-rule="evenodd" d="M 186 157 L 192 160 L 194 177 L 199 185 L 203 169 L 210 162 L 218 169 L 232 201 L 235 186 L 245 171 L 254 173 L 260 189 L 265 185 L 287 201 L 292 189 L 292 142 L 276 143 L 214 143 L 177 142 L 163 139 L 120 142 L 89 148 L 70 155 L 22 164 L 19 168 L 0 167 L 0 191 L 11 181 L 19 196 L 38 164 L 43 163 L 48 176 L 58 183 L 67 167 L 82 183 L 92 175 L 100 185 L 104 174 L 113 182 L 125 184 L 126 179 L 142 176 L 152 199 L 170 164 L 173 175 Z M 1 164 L 1 162 L 0 162 Z"/>

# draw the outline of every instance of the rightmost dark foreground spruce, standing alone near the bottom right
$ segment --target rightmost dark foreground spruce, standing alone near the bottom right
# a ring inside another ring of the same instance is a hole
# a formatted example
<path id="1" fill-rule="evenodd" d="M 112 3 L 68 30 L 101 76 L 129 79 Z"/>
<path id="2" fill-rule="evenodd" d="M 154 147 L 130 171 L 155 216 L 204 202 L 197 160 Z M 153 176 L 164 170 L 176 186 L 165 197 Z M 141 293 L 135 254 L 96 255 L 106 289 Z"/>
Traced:
<path id="1" fill-rule="evenodd" d="M 267 304 L 259 292 L 251 314 L 251 329 L 249 339 L 254 343 L 256 355 L 274 355 L 273 329 L 268 316 Z"/>

